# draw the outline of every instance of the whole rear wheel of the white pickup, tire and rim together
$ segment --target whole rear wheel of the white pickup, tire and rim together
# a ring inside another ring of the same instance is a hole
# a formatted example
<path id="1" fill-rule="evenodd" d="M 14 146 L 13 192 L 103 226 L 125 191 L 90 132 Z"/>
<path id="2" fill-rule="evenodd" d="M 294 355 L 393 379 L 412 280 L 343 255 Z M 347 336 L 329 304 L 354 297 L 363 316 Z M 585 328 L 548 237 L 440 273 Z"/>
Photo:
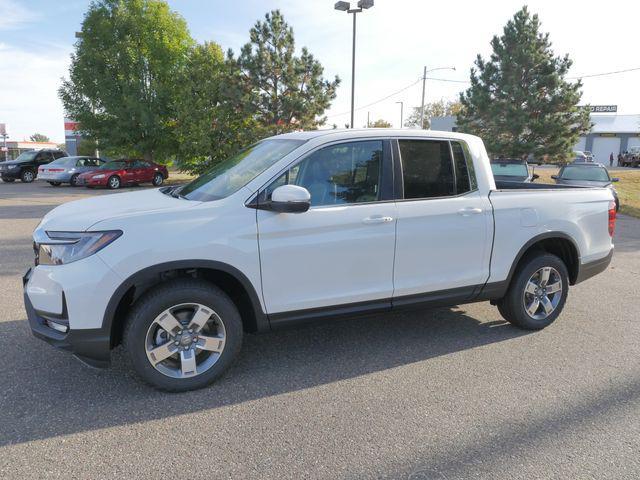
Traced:
<path id="1" fill-rule="evenodd" d="M 545 271 L 549 273 L 546 283 L 543 280 Z M 559 291 L 547 291 L 551 287 L 555 290 L 558 285 Z M 507 294 L 498 302 L 498 311 L 517 327 L 541 330 L 558 318 L 567 301 L 568 290 L 569 274 L 564 262 L 550 253 L 536 252 L 525 257 L 518 266 Z M 527 312 L 528 307 L 533 314 Z"/>

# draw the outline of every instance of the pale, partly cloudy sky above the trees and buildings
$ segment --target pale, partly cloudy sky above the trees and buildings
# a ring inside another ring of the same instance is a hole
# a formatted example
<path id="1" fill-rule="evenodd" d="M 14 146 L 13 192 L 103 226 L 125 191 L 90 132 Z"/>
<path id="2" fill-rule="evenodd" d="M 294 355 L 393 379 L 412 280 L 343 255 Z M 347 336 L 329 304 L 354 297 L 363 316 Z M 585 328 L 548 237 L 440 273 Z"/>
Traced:
<path id="1" fill-rule="evenodd" d="M 326 112 L 327 125 L 349 122 L 352 17 L 333 8 L 334 0 L 170 0 L 199 42 L 215 41 L 238 51 L 249 29 L 279 8 L 293 27 L 296 46 L 306 46 L 324 66 L 326 78 L 339 76 L 337 98 Z M 353 2 L 355 3 L 355 2 Z M 522 1 L 427 2 L 375 0 L 358 14 L 355 125 L 385 119 L 400 126 L 420 105 L 423 67 L 455 67 L 427 74 L 426 101 L 455 100 L 477 54 L 488 56 L 491 38 L 522 7 Z M 532 0 L 526 3 L 549 32 L 557 55 L 574 61 L 569 76 L 640 67 L 640 2 Z M 68 75 L 75 32 L 88 0 L 0 0 L 0 123 L 11 140 L 43 133 L 64 140 L 57 90 Z M 437 80 L 436 80 L 437 79 Z M 453 80 L 453 81 L 444 81 Z M 412 85 L 413 84 L 413 85 Z M 583 79 L 583 102 L 618 105 L 618 113 L 640 113 L 640 70 Z M 411 86 L 409 86 L 411 85 Z M 408 87 L 408 88 L 405 88 Z M 400 91 L 402 90 L 402 91 Z M 395 92 L 399 93 L 395 95 Z M 386 98 L 385 97 L 389 97 Z"/>

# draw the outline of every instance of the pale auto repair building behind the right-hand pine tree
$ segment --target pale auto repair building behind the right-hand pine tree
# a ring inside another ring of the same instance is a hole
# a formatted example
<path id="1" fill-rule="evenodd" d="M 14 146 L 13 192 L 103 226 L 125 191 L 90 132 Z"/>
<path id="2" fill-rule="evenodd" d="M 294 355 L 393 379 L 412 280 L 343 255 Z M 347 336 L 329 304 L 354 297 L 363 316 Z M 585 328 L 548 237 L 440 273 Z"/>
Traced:
<path id="1" fill-rule="evenodd" d="M 592 110 L 598 111 L 597 107 L 592 107 Z M 631 147 L 640 147 L 640 115 L 592 113 L 591 123 L 591 131 L 580 137 L 573 149 L 591 152 L 596 162 L 608 164 L 610 154 L 613 153 L 613 156 L 617 157 L 618 153 L 623 153 Z M 433 117 L 431 129 L 456 132 L 456 118 L 451 115 Z"/>

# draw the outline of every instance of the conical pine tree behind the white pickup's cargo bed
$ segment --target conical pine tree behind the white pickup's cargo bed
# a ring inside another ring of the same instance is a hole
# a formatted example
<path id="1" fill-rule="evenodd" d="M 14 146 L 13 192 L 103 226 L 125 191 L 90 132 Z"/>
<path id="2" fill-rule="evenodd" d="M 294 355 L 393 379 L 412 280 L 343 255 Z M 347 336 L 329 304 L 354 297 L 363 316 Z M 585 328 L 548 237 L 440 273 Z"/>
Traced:
<path id="1" fill-rule="evenodd" d="M 578 107 L 580 81 L 565 76 L 567 55 L 556 57 L 540 20 L 523 7 L 491 41 L 489 60 L 478 55 L 471 86 L 460 95 L 460 131 L 481 136 L 494 155 L 564 159 L 589 130 L 589 113 Z"/>

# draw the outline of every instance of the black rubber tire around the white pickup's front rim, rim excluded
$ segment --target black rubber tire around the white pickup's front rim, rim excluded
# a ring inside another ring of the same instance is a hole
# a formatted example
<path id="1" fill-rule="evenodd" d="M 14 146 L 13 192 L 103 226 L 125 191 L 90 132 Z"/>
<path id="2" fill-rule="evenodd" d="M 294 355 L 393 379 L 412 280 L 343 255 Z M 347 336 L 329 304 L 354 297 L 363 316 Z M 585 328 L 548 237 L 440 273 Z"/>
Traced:
<path id="1" fill-rule="evenodd" d="M 156 370 L 145 351 L 147 330 L 164 310 L 180 303 L 200 303 L 213 309 L 226 332 L 225 348 L 206 372 L 188 379 L 168 377 Z M 165 391 L 181 392 L 206 387 L 222 375 L 238 356 L 242 346 L 242 320 L 231 299 L 215 285 L 192 279 L 173 280 L 143 295 L 132 309 L 123 343 L 136 373 L 150 385 Z"/>

